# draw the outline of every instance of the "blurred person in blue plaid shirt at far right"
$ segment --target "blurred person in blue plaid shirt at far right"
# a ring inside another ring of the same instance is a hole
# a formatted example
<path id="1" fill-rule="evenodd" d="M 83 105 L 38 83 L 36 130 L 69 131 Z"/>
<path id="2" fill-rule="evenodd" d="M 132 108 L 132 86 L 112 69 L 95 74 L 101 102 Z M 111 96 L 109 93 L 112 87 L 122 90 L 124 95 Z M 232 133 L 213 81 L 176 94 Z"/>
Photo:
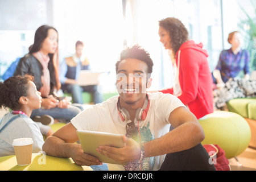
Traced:
<path id="1" fill-rule="evenodd" d="M 246 49 L 242 49 L 241 33 L 239 31 L 231 32 L 228 42 L 232 47 L 221 51 L 220 58 L 213 71 L 217 88 L 224 86 L 229 78 L 237 77 L 241 71 L 244 73 L 245 78 L 250 78 L 250 53 Z"/>

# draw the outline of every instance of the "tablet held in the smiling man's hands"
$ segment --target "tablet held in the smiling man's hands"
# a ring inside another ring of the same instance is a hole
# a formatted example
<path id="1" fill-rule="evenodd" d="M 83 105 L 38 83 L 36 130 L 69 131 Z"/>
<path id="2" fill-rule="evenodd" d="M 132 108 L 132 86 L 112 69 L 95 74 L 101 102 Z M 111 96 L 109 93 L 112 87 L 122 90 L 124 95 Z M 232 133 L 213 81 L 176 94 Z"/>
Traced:
<path id="1" fill-rule="evenodd" d="M 102 163 L 121 164 L 105 155 L 99 154 L 96 148 L 100 146 L 121 148 L 125 145 L 123 143 L 123 135 L 85 130 L 77 130 L 77 135 L 79 137 L 82 150 L 84 150 L 86 154 L 96 157 Z"/>

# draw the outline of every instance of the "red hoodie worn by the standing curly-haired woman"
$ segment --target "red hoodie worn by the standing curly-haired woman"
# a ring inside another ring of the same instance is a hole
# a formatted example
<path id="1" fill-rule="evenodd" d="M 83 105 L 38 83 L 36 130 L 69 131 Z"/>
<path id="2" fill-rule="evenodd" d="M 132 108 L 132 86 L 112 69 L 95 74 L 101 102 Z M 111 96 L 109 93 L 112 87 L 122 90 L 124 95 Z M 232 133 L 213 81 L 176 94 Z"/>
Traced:
<path id="1" fill-rule="evenodd" d="M 207 51 L 203 44 L 195 44 L 193 40 L 180 46 L 179 82 L 182 93 L 178 98 L 199 119 L 213 112 L 212 75 L 210 73 Z M 176 64 L 178 64 L 178 53 Z M 174 90 L 160 90 L 173 94 Z"/>

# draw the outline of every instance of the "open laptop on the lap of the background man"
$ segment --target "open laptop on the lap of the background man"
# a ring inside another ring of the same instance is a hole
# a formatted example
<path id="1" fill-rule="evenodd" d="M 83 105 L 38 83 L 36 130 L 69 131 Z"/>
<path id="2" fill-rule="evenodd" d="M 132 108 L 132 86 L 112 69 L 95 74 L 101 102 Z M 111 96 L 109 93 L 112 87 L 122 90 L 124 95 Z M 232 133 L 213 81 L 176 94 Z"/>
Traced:
<path id="1" fill-rule="evenodd" d="M 102 72 L 94 72 L 90 70 L 81 70 L 77 78 L 77 85 L 88 86 L 98 85 L 99 78 Z"/>

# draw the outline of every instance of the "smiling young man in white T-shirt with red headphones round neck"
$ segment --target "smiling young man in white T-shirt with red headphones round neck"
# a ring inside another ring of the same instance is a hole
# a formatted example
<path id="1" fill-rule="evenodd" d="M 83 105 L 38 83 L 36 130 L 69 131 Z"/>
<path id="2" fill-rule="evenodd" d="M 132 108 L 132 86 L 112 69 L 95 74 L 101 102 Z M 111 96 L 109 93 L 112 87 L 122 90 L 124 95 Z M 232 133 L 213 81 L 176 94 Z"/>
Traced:
<path id="1" fill-rule="evenodd" d="M 146 93 L 152 81 L 150 55 L 137 45 L 127 47 L 115 66 L 119 96 L 82 111 L 47 138 L 43 145 L 46 154 L 71 157 L 78 165 L 101 164 L 74 143 L 79 140 L 76 130 L 91 130 L 125 136 L 122 148 L 97 148 L 101 154 L 124 164 L 115 166 L 118 169 L 214 169 L 200 144 L 204 131 L 195 115 L 171 94 Z M 169 132 L 170 124 L 175 129 Z"/>

